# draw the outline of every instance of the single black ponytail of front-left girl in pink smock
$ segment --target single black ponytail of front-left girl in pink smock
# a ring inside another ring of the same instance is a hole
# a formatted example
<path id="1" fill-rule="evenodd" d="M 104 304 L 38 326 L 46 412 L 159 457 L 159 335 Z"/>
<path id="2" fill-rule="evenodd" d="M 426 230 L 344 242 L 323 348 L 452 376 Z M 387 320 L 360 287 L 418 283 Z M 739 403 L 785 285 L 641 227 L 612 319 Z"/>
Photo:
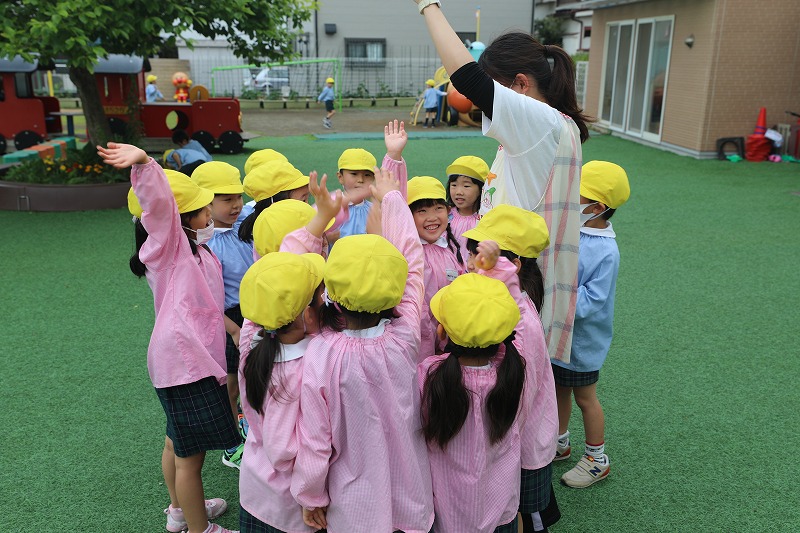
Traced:
<path id="1" fill-rule="evenodd" d="M 258 332 L 261 340 L 250 350 L 247 361 L 244 363 L 242 374 L 244 375 L 245 397 L 260 415 L 264 414 L 264 400 L 267 397 L 267 393 L 278 397 L 283 394 L 282 379 L 279 377 L 277 384 L 272 383 L 276 366 L 275 360 L 281 351 L 281 343 L 277 334 L 286 333 L 291 326 L 292 323 L 290 322 L 282 328 L 278 328 L 274 333 L 262 328 Z"/>

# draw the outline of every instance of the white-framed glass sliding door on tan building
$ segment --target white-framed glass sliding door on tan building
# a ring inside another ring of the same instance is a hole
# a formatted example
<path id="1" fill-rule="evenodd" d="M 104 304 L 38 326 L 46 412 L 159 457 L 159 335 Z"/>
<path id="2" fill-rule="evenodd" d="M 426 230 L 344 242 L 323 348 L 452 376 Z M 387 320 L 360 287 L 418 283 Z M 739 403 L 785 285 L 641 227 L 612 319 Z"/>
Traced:
<path id="1" fill-rule="evenodd" d="M 608 26 L 600 118 L 612 129 L 659 142 L 673 18 Z"/>

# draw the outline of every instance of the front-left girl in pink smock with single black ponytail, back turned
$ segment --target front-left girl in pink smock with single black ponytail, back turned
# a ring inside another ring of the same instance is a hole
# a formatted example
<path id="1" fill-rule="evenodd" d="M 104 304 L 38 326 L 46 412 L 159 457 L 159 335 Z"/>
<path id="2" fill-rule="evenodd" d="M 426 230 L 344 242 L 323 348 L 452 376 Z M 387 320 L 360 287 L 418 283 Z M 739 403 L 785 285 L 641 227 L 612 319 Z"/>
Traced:
<path id="1" fill-rule="evenodd" d="M 290 485 L 304 355 L 317 330 L 324 268 L 319 254 L 275 252 L 242 279 L 242 314 L 258 328 L 252 340 L 245 334 L 239 374 L 251 424 L 239 476 L 243 533 L 314 531 Z"/>

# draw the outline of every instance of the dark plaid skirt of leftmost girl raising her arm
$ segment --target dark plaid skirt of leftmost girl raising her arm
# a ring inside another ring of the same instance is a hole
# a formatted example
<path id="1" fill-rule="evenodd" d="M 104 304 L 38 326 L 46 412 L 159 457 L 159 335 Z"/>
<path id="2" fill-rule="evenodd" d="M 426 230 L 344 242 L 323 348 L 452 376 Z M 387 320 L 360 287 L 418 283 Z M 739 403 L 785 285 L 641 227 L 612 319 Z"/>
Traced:
<path id="1" fill-rule="evenodd" d="M 231 415 L 228 389 L 214 377 L 156 389 L 167 415 L 167 437 L 175 455 L 190 457 L 209 450 L 227 450 L 241 443 Z"/>

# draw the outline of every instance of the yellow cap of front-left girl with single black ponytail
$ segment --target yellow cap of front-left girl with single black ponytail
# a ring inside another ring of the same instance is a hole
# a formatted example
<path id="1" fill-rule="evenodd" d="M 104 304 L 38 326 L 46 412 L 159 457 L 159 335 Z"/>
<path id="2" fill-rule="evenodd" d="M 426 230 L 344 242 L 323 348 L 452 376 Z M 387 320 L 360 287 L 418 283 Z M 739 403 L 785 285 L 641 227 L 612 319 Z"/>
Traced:
<path id="1" fill-rule="evenodd" d="M 292 323 L 311 303 L 324 271 L 319 254 L 277 252 L 262 257 L 242 277 L 242 316 L 269 330 Z"/>

